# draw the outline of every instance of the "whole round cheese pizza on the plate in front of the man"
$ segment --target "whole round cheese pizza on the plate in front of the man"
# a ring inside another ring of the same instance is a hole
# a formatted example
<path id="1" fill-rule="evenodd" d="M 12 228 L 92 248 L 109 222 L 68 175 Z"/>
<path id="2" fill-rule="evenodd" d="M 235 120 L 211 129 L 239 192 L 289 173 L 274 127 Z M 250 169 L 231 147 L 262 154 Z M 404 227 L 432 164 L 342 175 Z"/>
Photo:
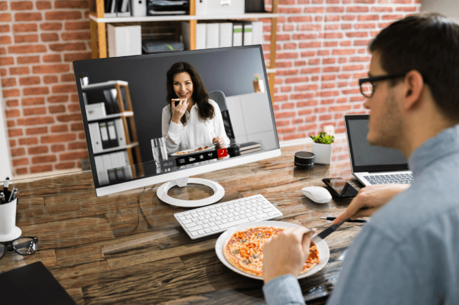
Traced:
<path id="1" fill-rule="evenodd" d="M 263 246 L 282 231 L 284 228 L 272 226 L 258 226 L 237 231 L 223 245 L 225 259 L 238 270 L 263 278 Z M 319 251 L 317 245 L 313 243 L 300 274 L 310 271 L 318 262 Z"/>

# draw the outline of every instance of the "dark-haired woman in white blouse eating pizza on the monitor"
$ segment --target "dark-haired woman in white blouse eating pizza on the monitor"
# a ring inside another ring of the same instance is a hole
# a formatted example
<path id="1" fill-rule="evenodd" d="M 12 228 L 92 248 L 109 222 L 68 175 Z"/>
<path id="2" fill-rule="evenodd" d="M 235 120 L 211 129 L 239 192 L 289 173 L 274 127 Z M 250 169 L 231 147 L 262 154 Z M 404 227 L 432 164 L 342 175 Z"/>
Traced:
<path id="1" fill-rule="evenodd" d="M 162 131 L 168 154 L 206 145 L 230 144 L 218 104 L 210 100 L 201 76 L 189 63 L 175 63 L 167 73 L 168 105 Z"/>

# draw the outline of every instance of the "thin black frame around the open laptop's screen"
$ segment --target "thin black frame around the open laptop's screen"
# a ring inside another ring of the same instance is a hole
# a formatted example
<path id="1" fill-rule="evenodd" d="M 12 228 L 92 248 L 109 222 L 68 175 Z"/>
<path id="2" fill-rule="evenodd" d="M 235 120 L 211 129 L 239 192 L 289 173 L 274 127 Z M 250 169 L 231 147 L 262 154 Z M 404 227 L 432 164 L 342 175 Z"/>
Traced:
<path id="1" fill-rule="evenodd" d="M 402 164 L 377 164 L 377 165 L 360 165 L 356 166 L 356 160 L 354 160 L 352 139 L 349 135 L 349 121 L 361 119 L 370 119 L 370 115 L 344 115 L 344 126 L 346 128 L 346 138 L 348 142 L 349 158 L 351 159 L 351 169 L 353 173 L 372 172 L 372 171 L 401 171 L 408 170 L 408 163 Z"/>

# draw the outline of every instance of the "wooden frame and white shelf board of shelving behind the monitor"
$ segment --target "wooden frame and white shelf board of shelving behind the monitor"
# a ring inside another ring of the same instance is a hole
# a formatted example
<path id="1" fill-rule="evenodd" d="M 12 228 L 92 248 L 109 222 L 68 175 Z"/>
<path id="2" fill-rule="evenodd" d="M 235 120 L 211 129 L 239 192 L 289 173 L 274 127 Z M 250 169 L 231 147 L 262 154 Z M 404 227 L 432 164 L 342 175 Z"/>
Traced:
<path id="1" fill-rule="evenodd" d="M 271 13 L 229 13 L 229 14 L 210 14 L 199 15 L 202 13 L 200 8 L 199 14 L 196 14 L 196 1 L 189 0 L 189 15 L 155 15 L 142 17 L 113 17 L 106 18 L 104 15 L 103 0 L 91 0 L 90 15 L 91 19 L 91 47 L 92 58 L 107 57 L 107 39 L 106 24 L 114 22 L 152 22 L 152 21 L 187 21 L 189 22 L 189 37 L 184 40 L 189 41 L 189 49 L 196 50 L 196 25 L 198 20 L 258 20 L 259 18 L 271 20 L 271 40 L 270 40 L 270 64 L 268 68 L 268 84 L 270 86 L 271 100 L 274 100 L 275 84 L 275 58 L 276 58 L 276 34 L 277 34 L 277 3 L 278 0 L 272 0 Z M 206 8 L 207 10 L 210 8 Z"/>

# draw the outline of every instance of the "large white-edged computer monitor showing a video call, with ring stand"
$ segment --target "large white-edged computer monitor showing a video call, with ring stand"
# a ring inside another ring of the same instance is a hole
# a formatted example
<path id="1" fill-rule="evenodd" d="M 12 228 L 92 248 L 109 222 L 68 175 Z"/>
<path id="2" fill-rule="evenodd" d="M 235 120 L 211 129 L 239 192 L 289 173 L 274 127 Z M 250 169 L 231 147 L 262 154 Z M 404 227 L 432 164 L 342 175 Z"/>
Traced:
<path id="1" fill-rule="evenodd" d="M 157 191 L 163 202 L 209 205 L 225 190 L 189 176 L 280 155 L 260 45 L 80 60 L 73 68 L 97 196 L 166 182 Z M 195 105 L 182 103 L 180 117 L 171 99 L 182 93 Z M 166 152 L 153 148 L 161 142 Z M 168 196 L 187 183 L 214 195 Z"/>

